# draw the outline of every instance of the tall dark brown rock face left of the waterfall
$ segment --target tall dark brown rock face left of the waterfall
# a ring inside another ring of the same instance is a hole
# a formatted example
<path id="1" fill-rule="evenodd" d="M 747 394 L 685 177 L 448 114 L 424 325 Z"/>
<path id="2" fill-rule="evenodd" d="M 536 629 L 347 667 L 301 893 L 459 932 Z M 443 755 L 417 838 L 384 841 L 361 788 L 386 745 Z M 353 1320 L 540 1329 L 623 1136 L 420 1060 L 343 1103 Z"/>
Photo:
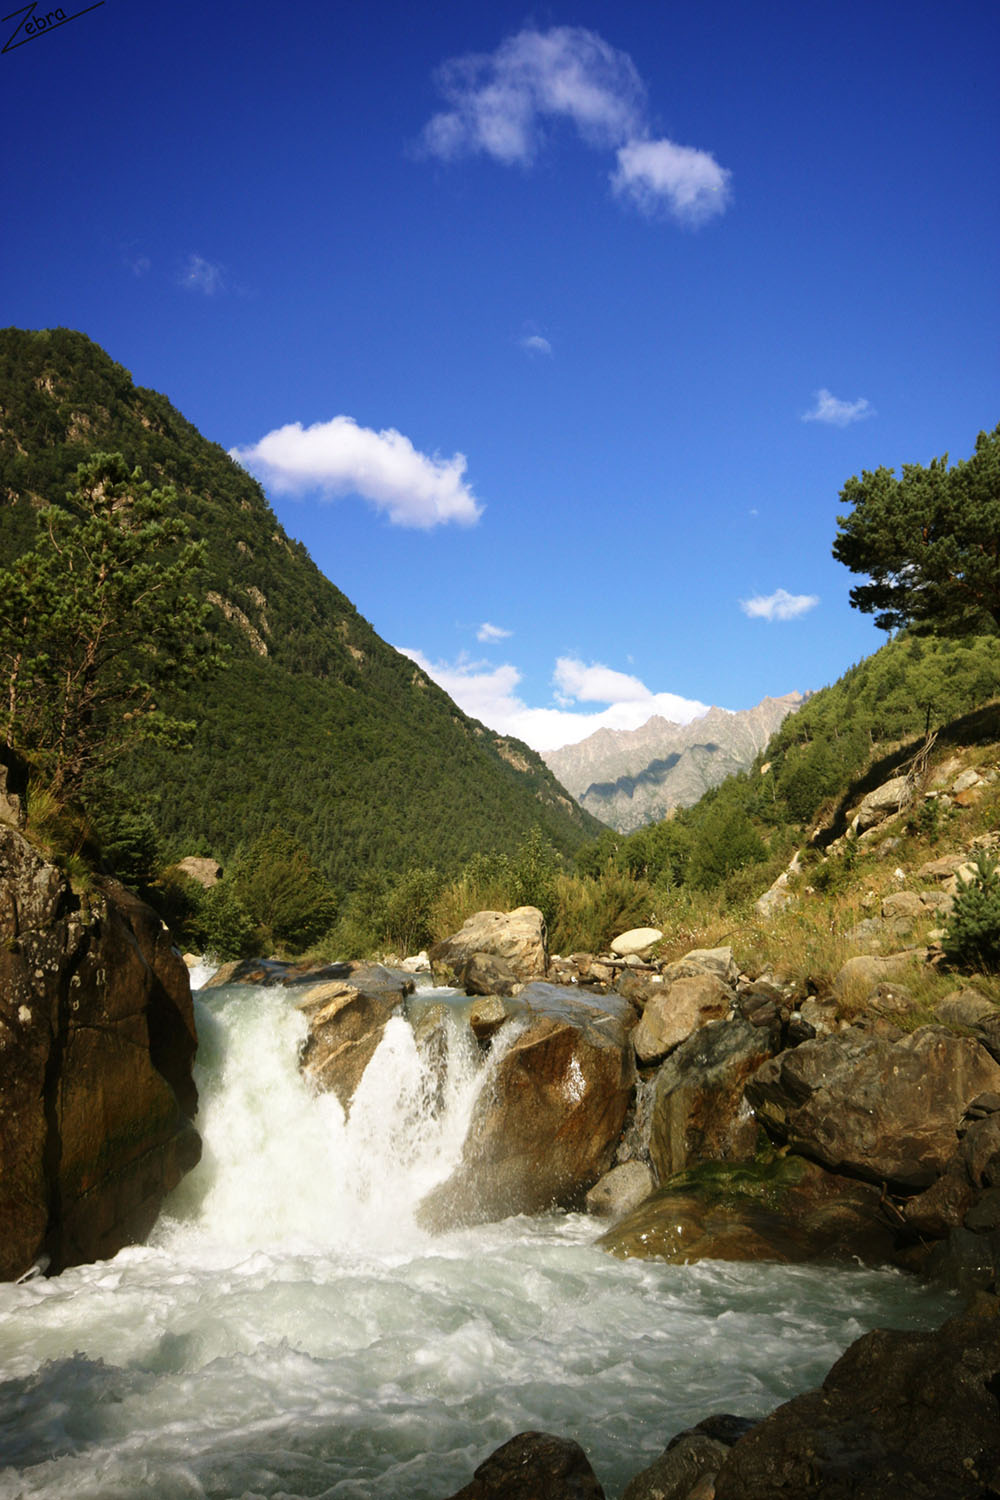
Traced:
<path id="1" fill-rule="evenodd" d="M 190 986 L 115 882 L 81 909 L 0 826 L 0 1276 L 114 1256 L 201 1154 Z"/>

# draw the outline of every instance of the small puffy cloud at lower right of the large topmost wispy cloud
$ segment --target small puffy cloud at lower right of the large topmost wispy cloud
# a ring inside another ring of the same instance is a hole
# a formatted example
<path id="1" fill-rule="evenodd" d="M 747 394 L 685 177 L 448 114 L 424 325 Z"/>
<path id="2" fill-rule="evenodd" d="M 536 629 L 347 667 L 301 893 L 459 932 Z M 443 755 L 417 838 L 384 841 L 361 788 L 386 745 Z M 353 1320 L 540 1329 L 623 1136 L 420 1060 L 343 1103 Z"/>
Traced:
<path id="1" fill-rule="evenodd" d="M 619 147 L 612 188 L 643 213 L 672 213 L 697 226 L 724 213 L 730 172 L 709 152 L 673 141 L 628 141 Z"/>

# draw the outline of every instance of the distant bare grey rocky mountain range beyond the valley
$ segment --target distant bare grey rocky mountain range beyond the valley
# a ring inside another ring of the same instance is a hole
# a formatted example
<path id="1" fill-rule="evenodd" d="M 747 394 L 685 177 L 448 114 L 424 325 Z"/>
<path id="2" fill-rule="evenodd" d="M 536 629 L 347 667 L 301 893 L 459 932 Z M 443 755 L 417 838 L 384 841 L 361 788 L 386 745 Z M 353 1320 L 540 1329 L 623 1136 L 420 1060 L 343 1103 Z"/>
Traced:
<path id="1" fill-rule="evenodd" d="M 748 770 L 804 702 L 802 693 L 786 693 L 735 712 L 709 708 L 688 724 L 654 716 L 640 729 L 598 729 L 543 759 L 582 807 L 627 834 Z"/>

